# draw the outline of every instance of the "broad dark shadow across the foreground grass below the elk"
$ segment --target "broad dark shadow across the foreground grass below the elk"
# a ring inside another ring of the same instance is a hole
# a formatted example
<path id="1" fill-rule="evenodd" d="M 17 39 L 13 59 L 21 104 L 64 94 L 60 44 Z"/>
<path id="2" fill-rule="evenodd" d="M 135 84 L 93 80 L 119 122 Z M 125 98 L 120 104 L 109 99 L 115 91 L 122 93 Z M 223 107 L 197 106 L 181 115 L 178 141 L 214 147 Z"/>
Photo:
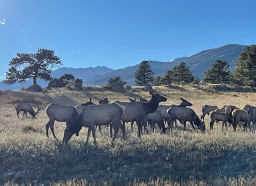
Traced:
<path id="1" fill-rule="evenodd" d="M 75 137 L 73 137 L 75 138 Z M 114 148 L 108 144 L 85 145 L 84 141 L 63 144 L 61 140 L 49 140 L 49 149 L 31 145 L 29 152 L 13 149 L 9 154 L 1 151 L 3 167 L 0 183 L 13 181 L 3 173 L 25 171 L 25 177 L 15 183 L 54 183 L 73 178 L 85 179 L 89 184 L 126 185 L 137 181 L 162 178 L 181 181 L 207 180 L 209 177 L 249 175 L 256 168 L 253 150 L 248 153 L 233 151 L 201 151 L 197 146 L 181 147 L 172 141 L 166 145 L 158 141 L 130 138 L 117 141 Z M 50 146 L 51 145 L 51 146 Z M 234 157 L 242 157 L 234 159 Z M 6 159 L 4 159 L 6 158 Z M 249 159 L 245 161 L 245 159 Z M 6 162 L 10 161 L 9 167 Z M 23 162 L 23 163 L 21 163 Z"/>

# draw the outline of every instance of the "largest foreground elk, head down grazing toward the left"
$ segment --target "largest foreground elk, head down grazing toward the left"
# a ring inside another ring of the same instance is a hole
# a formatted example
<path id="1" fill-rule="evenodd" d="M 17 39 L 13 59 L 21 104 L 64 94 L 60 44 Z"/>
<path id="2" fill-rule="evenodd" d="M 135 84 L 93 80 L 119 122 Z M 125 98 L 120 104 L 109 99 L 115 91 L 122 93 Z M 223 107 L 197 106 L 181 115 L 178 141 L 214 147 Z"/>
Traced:
<path id="1" fill-rule="evenodd" d="M 124 107 L 116 103 L 87 106 L 74 120 L 73 124 L 64 130 L 63 143 L 67 143 L 72 135 L 74 133 L 77 134 L 81 130 L 82 126 L 84 126 L 88 128 L 86 143 L 88 143 L 90 132 L 92 132 L 94 145 L 96 145 L 95 126 L 108 125 L 110 123 L 112 123 L 114 128 L 112 144 L 117 137 L 119 128 L 122 130 L 123 138 L 125 139 L 125 128 L 120 120 L 123 110 Z"/>

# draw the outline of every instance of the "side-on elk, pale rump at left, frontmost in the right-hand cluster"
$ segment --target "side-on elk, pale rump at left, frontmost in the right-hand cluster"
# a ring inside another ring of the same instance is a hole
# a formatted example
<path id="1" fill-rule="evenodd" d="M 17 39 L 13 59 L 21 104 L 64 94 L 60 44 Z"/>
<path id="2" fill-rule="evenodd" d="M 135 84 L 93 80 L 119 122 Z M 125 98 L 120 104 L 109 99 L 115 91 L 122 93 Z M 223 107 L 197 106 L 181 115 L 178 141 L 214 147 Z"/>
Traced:
<path id="1" fill-rule="evenodd" d="M 209 113 L 209 117 L 211 118 L 210 122 L 210 130 L 213 130 L 213 124 L 214 122 L 222 122 L 222 131 L 223 131 L 223 126 L 225 125 L 226 130 L 227 130 L 227 122 L 229 124 L 233 125 L 233 117 L 229 116 L 229 114 L 225 112 L 216 112 L 216 111 L 211 111 Z"/>

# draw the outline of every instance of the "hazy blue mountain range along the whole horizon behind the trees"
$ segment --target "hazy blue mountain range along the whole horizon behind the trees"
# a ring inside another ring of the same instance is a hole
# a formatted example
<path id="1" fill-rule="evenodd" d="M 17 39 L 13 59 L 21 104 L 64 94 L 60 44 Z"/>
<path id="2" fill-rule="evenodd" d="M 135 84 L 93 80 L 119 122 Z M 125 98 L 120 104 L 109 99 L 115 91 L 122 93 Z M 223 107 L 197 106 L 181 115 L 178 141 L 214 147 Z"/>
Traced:
<path id="1" fill-rule="evenodd" d="M 211 66 L 211 64 L 217 60 L 226 60 L 230 66 L 230 70 L 235 68 L 235 62 L 239 57 L 239 54 L 244 50 L 245 45 L 225 45 L 219 48 L 212 48 L 208 50 L 203 50 L 192 56 L 184 56 L 181 58 L 176 58 L 169 62 L 160 62 L 156 60 L 149 60 L 152 70 L 154 71 L 154 76 L 162 76 L 166 70 L 171 69 L 180 62 L 185 62 L 194 76 L 198 78 L 203 78 L 204 72 Z M 84 85 L 106 85 L 108 79 L 114 76 L 121 76 L 122 80 L 128 82 L 129 85 L 134 85 L 134 72 L 138 69 L 139 64 L 134 66 L 128 66 L 126 68 L 120 68 L 113 70 L 106 66 L 97 66 L 95 68 L 59 68 L 53 71 L 52 76 L 54 78 L 59 78 L 63 74 L 73 74 L 75 78 L 81 78 L 84 81 Z M 32 80 L 28 80 L 25 84 L 12 84 L 5 85 L 0 82 L 0 89 L 15 89 L 19 90 L 23 87 L 27 88 L 32 83 Z M 48 85 L 48 82 L 38 80 L 38 84 L 42 87 Z"/>

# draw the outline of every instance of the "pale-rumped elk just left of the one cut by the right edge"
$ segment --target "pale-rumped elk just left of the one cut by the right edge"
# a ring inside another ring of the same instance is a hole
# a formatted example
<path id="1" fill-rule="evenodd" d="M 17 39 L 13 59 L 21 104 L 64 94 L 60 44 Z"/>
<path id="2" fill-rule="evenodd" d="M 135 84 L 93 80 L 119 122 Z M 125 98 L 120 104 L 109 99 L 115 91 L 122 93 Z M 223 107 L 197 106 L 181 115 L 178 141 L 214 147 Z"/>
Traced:
<path id="1" fill-rule="evenodd" d="M 235 109 L 232 112 L 232 116 L 233 116 L 233 128 L 236 131 L 237 129 L 237 124 L 239 124 L 240 122 L 243 123 L 243 127 L 248 126 L 249 129 L 251 130 L 251 116 L 248 114 L 248 112 L 246 112 L 245 110 L 242 109 Z"/>

